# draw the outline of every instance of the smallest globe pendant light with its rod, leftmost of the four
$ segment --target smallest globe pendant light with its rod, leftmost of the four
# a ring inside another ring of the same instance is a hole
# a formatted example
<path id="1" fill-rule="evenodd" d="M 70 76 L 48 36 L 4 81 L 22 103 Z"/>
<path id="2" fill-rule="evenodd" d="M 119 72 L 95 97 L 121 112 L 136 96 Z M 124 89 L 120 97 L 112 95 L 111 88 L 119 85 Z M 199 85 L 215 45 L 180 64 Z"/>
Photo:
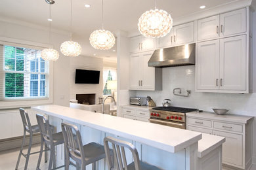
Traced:
<path id="1" fill-rule="evenodd" d="M 54 4 L 54 1 L 51 1 L 49 3 L 49 13 L 51 19 L 51 5 Z M 49 21 L 49 44 L 51 44 L 51 21 Z M 41 52 L 41 58 L 43 58 L 45 61 L 56 61 L 60 55 L 58 54 L 58 51 L 54 50 L 53 48 L 45 48 Z"/>

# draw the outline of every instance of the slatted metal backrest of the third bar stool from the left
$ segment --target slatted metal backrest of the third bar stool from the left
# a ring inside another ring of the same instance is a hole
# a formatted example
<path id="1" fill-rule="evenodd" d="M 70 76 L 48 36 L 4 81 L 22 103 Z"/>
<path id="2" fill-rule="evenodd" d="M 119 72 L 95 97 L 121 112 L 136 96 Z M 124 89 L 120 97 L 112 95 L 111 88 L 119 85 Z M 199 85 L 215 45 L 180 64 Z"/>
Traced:
<path id="1" fill-rule="evenodd" d="M 68 156 L 75 161 L 83 161 L 85 156 L 83 154 L 83 143 L 79 129 L 77 126 L 68 123 L 62 123 L 61 128 Z"/>

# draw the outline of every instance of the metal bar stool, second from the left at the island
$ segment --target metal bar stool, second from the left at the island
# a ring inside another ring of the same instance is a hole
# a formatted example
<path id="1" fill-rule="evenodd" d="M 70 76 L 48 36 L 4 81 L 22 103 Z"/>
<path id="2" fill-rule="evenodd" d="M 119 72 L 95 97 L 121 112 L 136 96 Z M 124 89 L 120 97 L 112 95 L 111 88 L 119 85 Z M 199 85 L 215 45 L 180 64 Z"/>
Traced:
<path id="1" fill-rule="evenodd" d="M 39 169 L 42 154 L 43 154 L 43 143 L 47 145 L 47 148 L 50 150 L 50 161 L 48 169 L 51 170 L 52 166 L 53 169 L 58 169 L 64 167 L 65 165 L 56 167 L 56 158 L 55 158 L 55 146 L 58 144 L 64 144 L 64 139 L 62 132 L 53 133 L 51 125 L 49 124 L 49 120 L 46 116 L 37 114 L 37 124 L 39 126 L 39 130 L 41 133 L 41 148 L 39 152 L 39 158 L 37 161 L 37 169 Z"/>

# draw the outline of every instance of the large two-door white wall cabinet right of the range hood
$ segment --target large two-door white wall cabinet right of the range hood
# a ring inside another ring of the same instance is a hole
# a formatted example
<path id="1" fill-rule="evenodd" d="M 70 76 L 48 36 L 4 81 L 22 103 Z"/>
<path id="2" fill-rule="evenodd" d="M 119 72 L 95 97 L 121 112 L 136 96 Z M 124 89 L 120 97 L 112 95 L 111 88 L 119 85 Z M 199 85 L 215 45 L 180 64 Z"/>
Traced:
<path id="1" fill-rule="evenodd" d="M 248 93 L 246 37 L 198 42 L 197 92 Z"/>

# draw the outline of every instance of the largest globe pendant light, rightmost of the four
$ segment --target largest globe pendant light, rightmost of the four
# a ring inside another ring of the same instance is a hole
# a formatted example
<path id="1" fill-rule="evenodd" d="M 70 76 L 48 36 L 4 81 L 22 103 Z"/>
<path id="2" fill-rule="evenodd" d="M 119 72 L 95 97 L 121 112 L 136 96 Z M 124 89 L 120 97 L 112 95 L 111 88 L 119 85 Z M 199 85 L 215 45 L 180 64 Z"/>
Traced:
<path id="1" fill-rule="evenodd" d="M 164 37 L 173 27 L 173 18 L 165 10 L 156 9 L 144 12 L 138 23 L 139 31 L 145 37 Z"/>

